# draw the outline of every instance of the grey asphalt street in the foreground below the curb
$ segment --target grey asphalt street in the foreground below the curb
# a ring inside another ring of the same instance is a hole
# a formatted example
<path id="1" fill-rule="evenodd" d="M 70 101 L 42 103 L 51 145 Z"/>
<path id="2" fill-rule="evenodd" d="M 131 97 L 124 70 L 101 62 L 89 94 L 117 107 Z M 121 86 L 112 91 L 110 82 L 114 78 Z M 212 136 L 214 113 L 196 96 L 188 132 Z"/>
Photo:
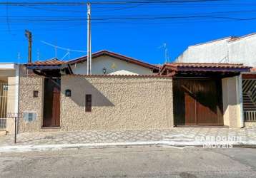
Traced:
<path id="1" fill-rule="evenodd" d="M 256 177 L 256 149 L 139 147 L 0 153 L 0 177 Z"/>

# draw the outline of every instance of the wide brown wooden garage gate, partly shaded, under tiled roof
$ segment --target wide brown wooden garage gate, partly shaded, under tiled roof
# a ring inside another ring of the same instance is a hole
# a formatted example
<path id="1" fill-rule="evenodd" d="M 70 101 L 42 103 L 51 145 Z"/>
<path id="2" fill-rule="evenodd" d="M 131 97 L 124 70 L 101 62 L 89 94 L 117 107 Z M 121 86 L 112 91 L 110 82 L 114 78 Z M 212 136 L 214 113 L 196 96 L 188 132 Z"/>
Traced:
<path id="1" fill-rule="evenodd" d="M 174 125 L 223 125 L 221 80 L 174 78 Z"/>

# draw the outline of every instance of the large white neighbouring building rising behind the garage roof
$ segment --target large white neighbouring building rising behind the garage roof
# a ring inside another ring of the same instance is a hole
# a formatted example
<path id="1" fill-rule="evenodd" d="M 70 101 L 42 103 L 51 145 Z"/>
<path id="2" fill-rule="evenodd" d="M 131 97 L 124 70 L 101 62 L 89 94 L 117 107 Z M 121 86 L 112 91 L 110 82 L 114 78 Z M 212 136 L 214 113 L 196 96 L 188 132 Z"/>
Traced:
<path id="1" fill-rule="evenodd" d="M 189 46 L 175 62 L 244 63 L 256 66 L 256 33 L 227 37 Z"/>

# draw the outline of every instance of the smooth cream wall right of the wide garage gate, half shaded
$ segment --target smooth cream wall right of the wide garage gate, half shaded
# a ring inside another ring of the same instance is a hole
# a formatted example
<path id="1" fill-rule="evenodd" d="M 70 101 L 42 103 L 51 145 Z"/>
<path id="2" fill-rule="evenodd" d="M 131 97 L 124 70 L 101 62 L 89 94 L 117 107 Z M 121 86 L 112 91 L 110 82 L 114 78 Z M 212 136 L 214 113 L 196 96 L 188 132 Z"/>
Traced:
<path id="1" fill-rule="evenodd" d="M 238 76 L 222 79 L 223 120 L 224 125 L 231 128 L 242 127 L 241 125 L 241 100 Z"/>

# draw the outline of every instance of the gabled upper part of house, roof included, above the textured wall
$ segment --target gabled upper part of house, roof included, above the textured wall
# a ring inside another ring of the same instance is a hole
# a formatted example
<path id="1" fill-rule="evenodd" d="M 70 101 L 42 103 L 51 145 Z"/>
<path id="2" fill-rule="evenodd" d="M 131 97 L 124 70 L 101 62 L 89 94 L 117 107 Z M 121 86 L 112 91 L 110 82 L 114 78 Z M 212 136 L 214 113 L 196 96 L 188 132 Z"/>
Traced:
<path id="1" fill-rule="evenodd" d="M 87 56 L 68 62 L 74 74 L 87 74 Z M 152 75 L 159 68 L 134 58 L 110 51 L 99 51 L 92 54 L 92 75 Z"/>

